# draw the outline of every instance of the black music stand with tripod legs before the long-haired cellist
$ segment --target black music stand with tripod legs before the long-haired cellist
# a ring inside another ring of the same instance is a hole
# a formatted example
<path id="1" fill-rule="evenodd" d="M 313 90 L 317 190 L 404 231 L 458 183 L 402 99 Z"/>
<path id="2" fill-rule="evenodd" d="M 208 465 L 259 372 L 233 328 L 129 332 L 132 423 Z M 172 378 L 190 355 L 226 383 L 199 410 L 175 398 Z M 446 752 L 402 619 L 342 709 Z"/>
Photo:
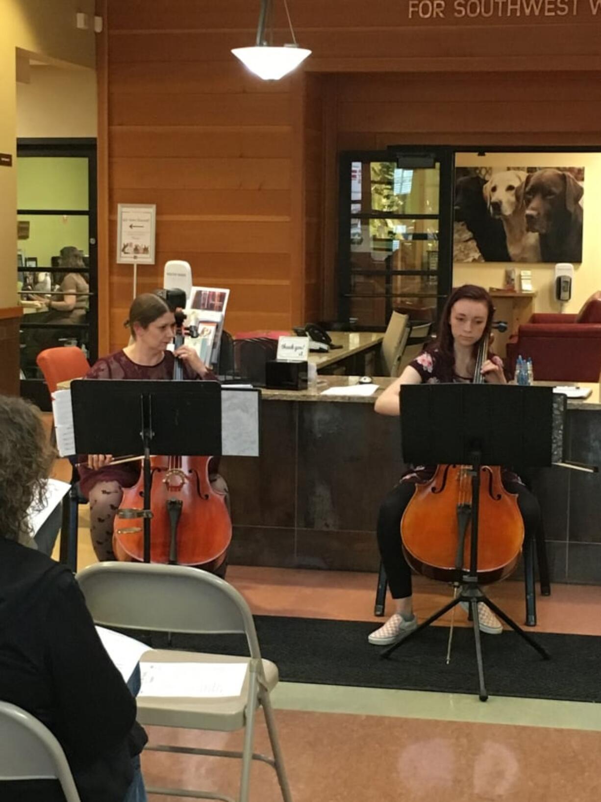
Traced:
<path id="1" fill-rule="evenodd" d="M 553 390 L 498 384 L 420 384 L 401 387 L 403 459 L 413 464 L 470 465 L 470 568 L 458 596 L 381 653 L 394 650 L 426 629 L 459 602 L 468 602 L 474 626 L 479 697 L 486 702 L 478 602 L 485 602 L 545 659 L 550 655 L 482 592 L 478 585 L 478 501 L 482 465 L 551 465 Z M 458 549 L 463 554 L 463 549 Z"/>

